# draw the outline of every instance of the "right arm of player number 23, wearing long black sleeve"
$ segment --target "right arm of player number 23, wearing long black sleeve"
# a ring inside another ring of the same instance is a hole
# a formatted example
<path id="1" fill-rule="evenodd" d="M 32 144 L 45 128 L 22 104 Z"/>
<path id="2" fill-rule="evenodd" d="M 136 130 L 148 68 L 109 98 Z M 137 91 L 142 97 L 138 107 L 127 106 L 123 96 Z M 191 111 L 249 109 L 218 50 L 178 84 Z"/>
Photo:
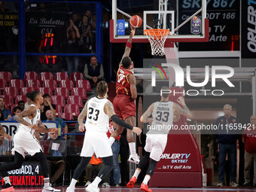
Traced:
<path id="1" fill-rule="evenodd" d="M 117 115 L 114 113 L 114 107 L 111 102 L 106 102 L 104 105 L 104 112 L 105 114 L 108 114 L 108 117 L 111 117 L 111 120 L 114 121 L 114 123 L 117 123 L 117 125 L 122 126 L 128 130 L 133 130 L 134 133 L 139 136 L 142 133 L 142 130 L 137 126 L 131 126 L 130 124 L 126 123 L 124 120 L 121 120 Z"/>

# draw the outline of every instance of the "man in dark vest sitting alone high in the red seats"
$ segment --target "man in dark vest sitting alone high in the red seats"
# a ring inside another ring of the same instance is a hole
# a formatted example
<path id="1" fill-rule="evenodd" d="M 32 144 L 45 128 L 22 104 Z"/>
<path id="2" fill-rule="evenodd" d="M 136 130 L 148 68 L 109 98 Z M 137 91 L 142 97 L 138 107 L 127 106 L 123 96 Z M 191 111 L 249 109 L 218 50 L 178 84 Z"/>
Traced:
<path id="1" fill-rule="evenodd" d="M 103 66 L 97 62 L 97 57 L 90 58 L 90 64 L 84 66 L 84 77 L 87 78 L 91 84 L 97 84 L 104 80 Z"/>

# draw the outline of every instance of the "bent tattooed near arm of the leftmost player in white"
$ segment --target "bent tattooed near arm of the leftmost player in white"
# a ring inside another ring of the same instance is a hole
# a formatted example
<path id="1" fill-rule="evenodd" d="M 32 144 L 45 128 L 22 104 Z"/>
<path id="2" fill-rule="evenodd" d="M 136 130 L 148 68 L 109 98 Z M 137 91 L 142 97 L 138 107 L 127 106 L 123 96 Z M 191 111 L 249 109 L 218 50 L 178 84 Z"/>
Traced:
<path id="1" fill-rule="evenodd" d="M 23 119 L 23 117 L 35 117 L 36 114 L 36 108 L 31 106 L 27 108 L 24 111 L 21 111 L 20 113 L 15 115 L 15 120 L 17 120 L 19 123 L 22 123 L 23 125 L 29 126 L 32 129 L 36 128 L 36 125 L 32 125 L 31 123 L 26 122 L 26 120 Z"/>

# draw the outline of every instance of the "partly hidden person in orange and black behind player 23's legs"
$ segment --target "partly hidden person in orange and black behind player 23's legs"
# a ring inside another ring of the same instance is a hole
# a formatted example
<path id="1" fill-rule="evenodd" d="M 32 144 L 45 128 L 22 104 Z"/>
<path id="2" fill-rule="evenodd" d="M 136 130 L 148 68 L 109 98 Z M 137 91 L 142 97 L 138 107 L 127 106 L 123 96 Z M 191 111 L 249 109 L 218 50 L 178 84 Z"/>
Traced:
<path id="1" fill-rule="evenodd" d="M 99 170 L 102 169 L 102 167 L 104 166 L 104 163 L 102 163 L 102 158 L 95 157 L 95 154 L 93 154 L 93 157 L 90 159 L 90 162 L 87 164 L 86 167 L 86 176 L 87 176 L 87 183 L 85 184 L 85 187 L 87 187 L 89 184 L 91 184 L 92 182 L 92 176 L 93 175 L 97 175 Z M 108 184 L 108 177 L 105 177 L 102 179 L 102 187 L 111 187 Z"/>

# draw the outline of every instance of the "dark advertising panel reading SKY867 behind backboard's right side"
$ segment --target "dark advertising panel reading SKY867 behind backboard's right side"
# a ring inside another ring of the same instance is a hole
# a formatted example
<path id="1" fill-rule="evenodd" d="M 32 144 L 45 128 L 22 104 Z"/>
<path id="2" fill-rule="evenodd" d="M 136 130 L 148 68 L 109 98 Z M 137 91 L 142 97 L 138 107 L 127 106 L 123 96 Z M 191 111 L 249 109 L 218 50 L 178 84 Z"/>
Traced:
<path id="1" fill-rule="evenodd" d="M 207 0 L 209 42 L 180 43 L 180 51 L 239 50 L 240 0 Z M 178 24 L 201 8 L 201 0 L 178 1 Z M 200 14 L 197 16 L 201 19 Z M 190 33 L 190 23 L 181 27 L 179 35 Z M 192 34 L 191 34 L 192 35 Z"/>

